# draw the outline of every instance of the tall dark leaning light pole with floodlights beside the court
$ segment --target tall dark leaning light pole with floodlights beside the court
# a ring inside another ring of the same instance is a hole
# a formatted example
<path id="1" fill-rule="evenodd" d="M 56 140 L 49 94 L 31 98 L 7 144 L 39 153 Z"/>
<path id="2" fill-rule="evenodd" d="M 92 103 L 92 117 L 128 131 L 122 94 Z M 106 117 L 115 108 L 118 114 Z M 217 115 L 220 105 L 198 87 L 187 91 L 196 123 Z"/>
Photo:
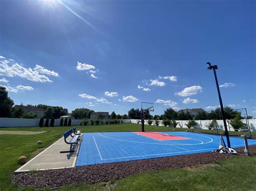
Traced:
<path id="1" fill-rule="evenodd" d="M 230 146 L 230 136 L 228 135 L 228 131 L 227 131 L 226 117 L 225 117 L 225 113 L 224 113 L 222 99 L 221 99 L 221 96 L 220 96 L 219 83 L 218 83 L 218 79 L 217 79 L 217 75 L 216 75 L 216 69 L 218 69 L 218 66 L 217 65 L 211 65 L 210 62 L 207 62 L 206 64 L 209 65 L 209 67 L 207 69 L 213 69 L 213 73 L 214 73 L 214 77 L 215 77 L 215 82 L 216 82 L 216 86 L 217 86 L 217 90 L 218 90 L 218 95 L 219 95 L 220 109 L 221 109 L 221 114 L 222 114 L 224 128 L 225 128 L 225 135 L 226 135 L 226 138 L 227 138 L 227 146 L 228 146 L 228 148 L 231 148 L 231 146 Z"/>

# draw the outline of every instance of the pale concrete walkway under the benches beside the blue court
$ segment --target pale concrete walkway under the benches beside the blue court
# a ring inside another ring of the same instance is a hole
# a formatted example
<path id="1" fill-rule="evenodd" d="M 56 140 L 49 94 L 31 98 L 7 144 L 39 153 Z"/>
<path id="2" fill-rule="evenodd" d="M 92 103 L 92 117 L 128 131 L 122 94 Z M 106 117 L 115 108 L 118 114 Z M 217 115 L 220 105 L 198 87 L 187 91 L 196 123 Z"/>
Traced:
<path id="1" fill-rule="evenodd" d="M 71 138 L 70 138 L 71 139 Z M 68 140 L 70 140 L 68 139 Z M 77 155 L 80 147 L 79 141 L 78 145 L 74 145 L 72 150 L 73 153 L 60 153 L 60 151 L 69 151 L 70 145 L 64 142 L 64 137 L 57 140 L 51 146 L 46 148 L 43 152 L 36 155 L 25 165 L 17 169 L 15 174 L 28 172 L 30 170 L 45 170 L 45 169 L 58 169 L 58 168 L 70 168 L 75 167 Z"/>

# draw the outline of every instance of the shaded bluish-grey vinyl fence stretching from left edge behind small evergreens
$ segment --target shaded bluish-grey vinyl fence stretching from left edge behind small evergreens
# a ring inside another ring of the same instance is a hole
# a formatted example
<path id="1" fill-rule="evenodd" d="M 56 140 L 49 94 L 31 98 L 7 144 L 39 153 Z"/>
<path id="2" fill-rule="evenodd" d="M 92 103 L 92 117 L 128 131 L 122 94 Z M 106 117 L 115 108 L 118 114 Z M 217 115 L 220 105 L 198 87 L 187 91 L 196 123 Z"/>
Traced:
<path id="1" fill-rule="evenodd" d="M 123 123 L 131 123 L 131 119 L 122 119 Z M 40 119 L 24 119 L 24 118 L 2 118 L 0 117 L 0 128 L 10 128 L 10 127 L 30 127 L 30 126 L 39 126 Z M 44 119 L 45 124 L 46 119 Z M 51 119 L 49 119 L 49 125 L 50 125 Z M 71 125 L 79 125 L 81 122 L 83 122 L 83 119 L 71 119 Z M 69 121 L 68 121 L 69 122 Z M 64 121 L 63 121 L 64 123 Z M 60 119 L 55 119 L 54 126 L 59 126 Z M 91 121 L 89 119 L 89 123 L 87 125 L 90 125 Z M 105 124 L 105 123 L 104 123 Z"/>

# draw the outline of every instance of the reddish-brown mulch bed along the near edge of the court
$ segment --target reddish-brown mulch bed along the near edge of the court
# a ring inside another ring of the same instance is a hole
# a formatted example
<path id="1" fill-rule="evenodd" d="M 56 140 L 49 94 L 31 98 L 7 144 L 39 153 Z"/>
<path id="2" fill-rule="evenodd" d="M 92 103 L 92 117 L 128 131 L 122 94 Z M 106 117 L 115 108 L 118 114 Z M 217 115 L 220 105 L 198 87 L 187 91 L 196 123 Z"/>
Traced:
<path id="1" fill-rule="evenodd" d="M 239 155 L 244 154 L 244 147 L 235 149 Z M 250 152 L 256 151 L 256 145 L 250 146 Z M 82 183 L 106 182 L 111 179 L 120 179 L 136 173 L 160 171 L 164 168 L 183 168 L 199 164 L 207 164 L 220 159 L 230 158 L 230 154 L 219 152 L 205 152 L 198 154 L 179 155 L 156 159 L 113 162 L 98 165 L 80 166 L 31 173 L 22 173 L 12 176 L 12 181 L 19 187 L 57 188 L 65 185 Z"/>

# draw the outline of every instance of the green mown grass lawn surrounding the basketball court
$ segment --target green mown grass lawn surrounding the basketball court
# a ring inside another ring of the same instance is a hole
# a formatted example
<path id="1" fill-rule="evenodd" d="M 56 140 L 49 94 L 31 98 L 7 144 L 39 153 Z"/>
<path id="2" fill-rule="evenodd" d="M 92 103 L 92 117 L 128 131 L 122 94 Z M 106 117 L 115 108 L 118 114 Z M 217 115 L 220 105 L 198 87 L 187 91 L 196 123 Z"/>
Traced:
<path id="1" fill-rule="evenodd" d="M 38 148 L 48 147 L 63 132 L 71 127 L 54 128 L 0 128 L 9 131 L 47 131 L 38 135 L 0 135 L 0 190 L 15 190 L 18 187 L 11 183 L 11 174 L 20 166 L 17 159 L 22 155 L 30 158 Z M 99 126 L 78 126 L 82 132 L 120 132 L 140 131 L 140 124 L 117 124 Z M 145 125 L 146 131 L 172 131 L 173 128 Z M 187 129 L 175 128 L 176 131 Z M 255 134 L 254 134 L 255 135 Z M 42 145 L 36 142 L 42 140 Z M 161 172 L 151 172 L 128 176 L 120 180 L 95 185 L 66 186 L 62 190 L 83 189 L 256 189 L 256 155 L 251 157 L 233 157 L 218 162 L 218 166 L 207 167 L 196 171 L 185 169 L 165 169 Z M 226 181 L 225 181 L 226 180 Z"/>

